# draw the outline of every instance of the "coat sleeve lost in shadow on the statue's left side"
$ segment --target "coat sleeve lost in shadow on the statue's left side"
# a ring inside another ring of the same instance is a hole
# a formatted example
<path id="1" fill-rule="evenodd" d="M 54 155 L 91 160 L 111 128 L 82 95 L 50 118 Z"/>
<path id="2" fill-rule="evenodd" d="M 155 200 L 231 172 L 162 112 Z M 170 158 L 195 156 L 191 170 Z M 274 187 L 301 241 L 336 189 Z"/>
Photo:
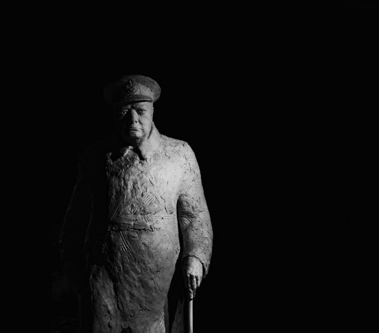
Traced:
<path id="1" fill-rule="evenodd" d="M 80 155 L 77 180 L 61 229 L 59 244 L 62 266 L 69 262 L 82 261 L 84 237 L 91 211 L 84 165 L 83 155 Z"/>

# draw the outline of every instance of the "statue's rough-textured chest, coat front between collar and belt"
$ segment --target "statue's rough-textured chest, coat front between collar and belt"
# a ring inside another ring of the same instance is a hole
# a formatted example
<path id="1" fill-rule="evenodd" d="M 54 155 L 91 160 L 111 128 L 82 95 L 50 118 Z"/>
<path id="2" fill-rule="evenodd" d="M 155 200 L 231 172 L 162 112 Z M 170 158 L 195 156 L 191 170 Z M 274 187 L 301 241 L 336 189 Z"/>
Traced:
<path id="1" fill-rule="evenodd" d="M 167 153 L 167 152 L 164 152 Z M 176 211 L 184 161 L 171 152 L 140 160 L 130 150 L 125 157 L 112 161 L 107 154 L 110 218 Z"/>

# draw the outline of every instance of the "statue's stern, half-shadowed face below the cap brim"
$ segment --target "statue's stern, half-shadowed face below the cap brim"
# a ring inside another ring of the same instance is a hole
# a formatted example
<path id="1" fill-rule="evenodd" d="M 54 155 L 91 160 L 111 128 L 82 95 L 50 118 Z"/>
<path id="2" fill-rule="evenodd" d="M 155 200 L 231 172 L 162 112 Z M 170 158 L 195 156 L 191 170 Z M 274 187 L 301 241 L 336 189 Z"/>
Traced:
<path id="1" fill-rule="evenodd" d="M 115 125 L 121 137 L 127 141 L 147 138 L 153 122 L 153 103 L 139 102 L 115 110 Z"/>

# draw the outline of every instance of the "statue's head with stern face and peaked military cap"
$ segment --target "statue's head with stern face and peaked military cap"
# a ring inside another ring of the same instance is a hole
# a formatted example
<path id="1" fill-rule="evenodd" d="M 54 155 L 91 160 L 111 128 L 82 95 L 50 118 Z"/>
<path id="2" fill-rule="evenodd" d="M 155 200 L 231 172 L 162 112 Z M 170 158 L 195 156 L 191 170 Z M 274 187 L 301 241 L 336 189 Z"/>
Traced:
<path id="1" fill-rule="evenodd" d="M 161 88 L 144 75 L 127 75 L 104 89 L 105 100 L 113 105 L 116 130 L 130 144 L 149 137 L 153 124 L 153 103 Z"/>

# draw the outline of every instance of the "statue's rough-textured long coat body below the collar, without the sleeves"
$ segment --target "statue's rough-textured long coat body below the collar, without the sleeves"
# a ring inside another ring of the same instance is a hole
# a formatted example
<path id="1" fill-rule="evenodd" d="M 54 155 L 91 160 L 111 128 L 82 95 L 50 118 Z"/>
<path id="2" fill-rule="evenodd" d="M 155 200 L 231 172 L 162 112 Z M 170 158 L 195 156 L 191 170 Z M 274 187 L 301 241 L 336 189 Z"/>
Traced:
<path id="1" fill-rule="evenodd" d="M 101 304 L 97 315 L 113 313 L 135 331 L 164 331 L 165 302 L 180 251 L 181 142 L 162 139 L 146 160 L 132 149 L 124 156 L 106 151 L 88 178 L 93 201 L 88 267 L 92 295 L 99 295 Z"/>

